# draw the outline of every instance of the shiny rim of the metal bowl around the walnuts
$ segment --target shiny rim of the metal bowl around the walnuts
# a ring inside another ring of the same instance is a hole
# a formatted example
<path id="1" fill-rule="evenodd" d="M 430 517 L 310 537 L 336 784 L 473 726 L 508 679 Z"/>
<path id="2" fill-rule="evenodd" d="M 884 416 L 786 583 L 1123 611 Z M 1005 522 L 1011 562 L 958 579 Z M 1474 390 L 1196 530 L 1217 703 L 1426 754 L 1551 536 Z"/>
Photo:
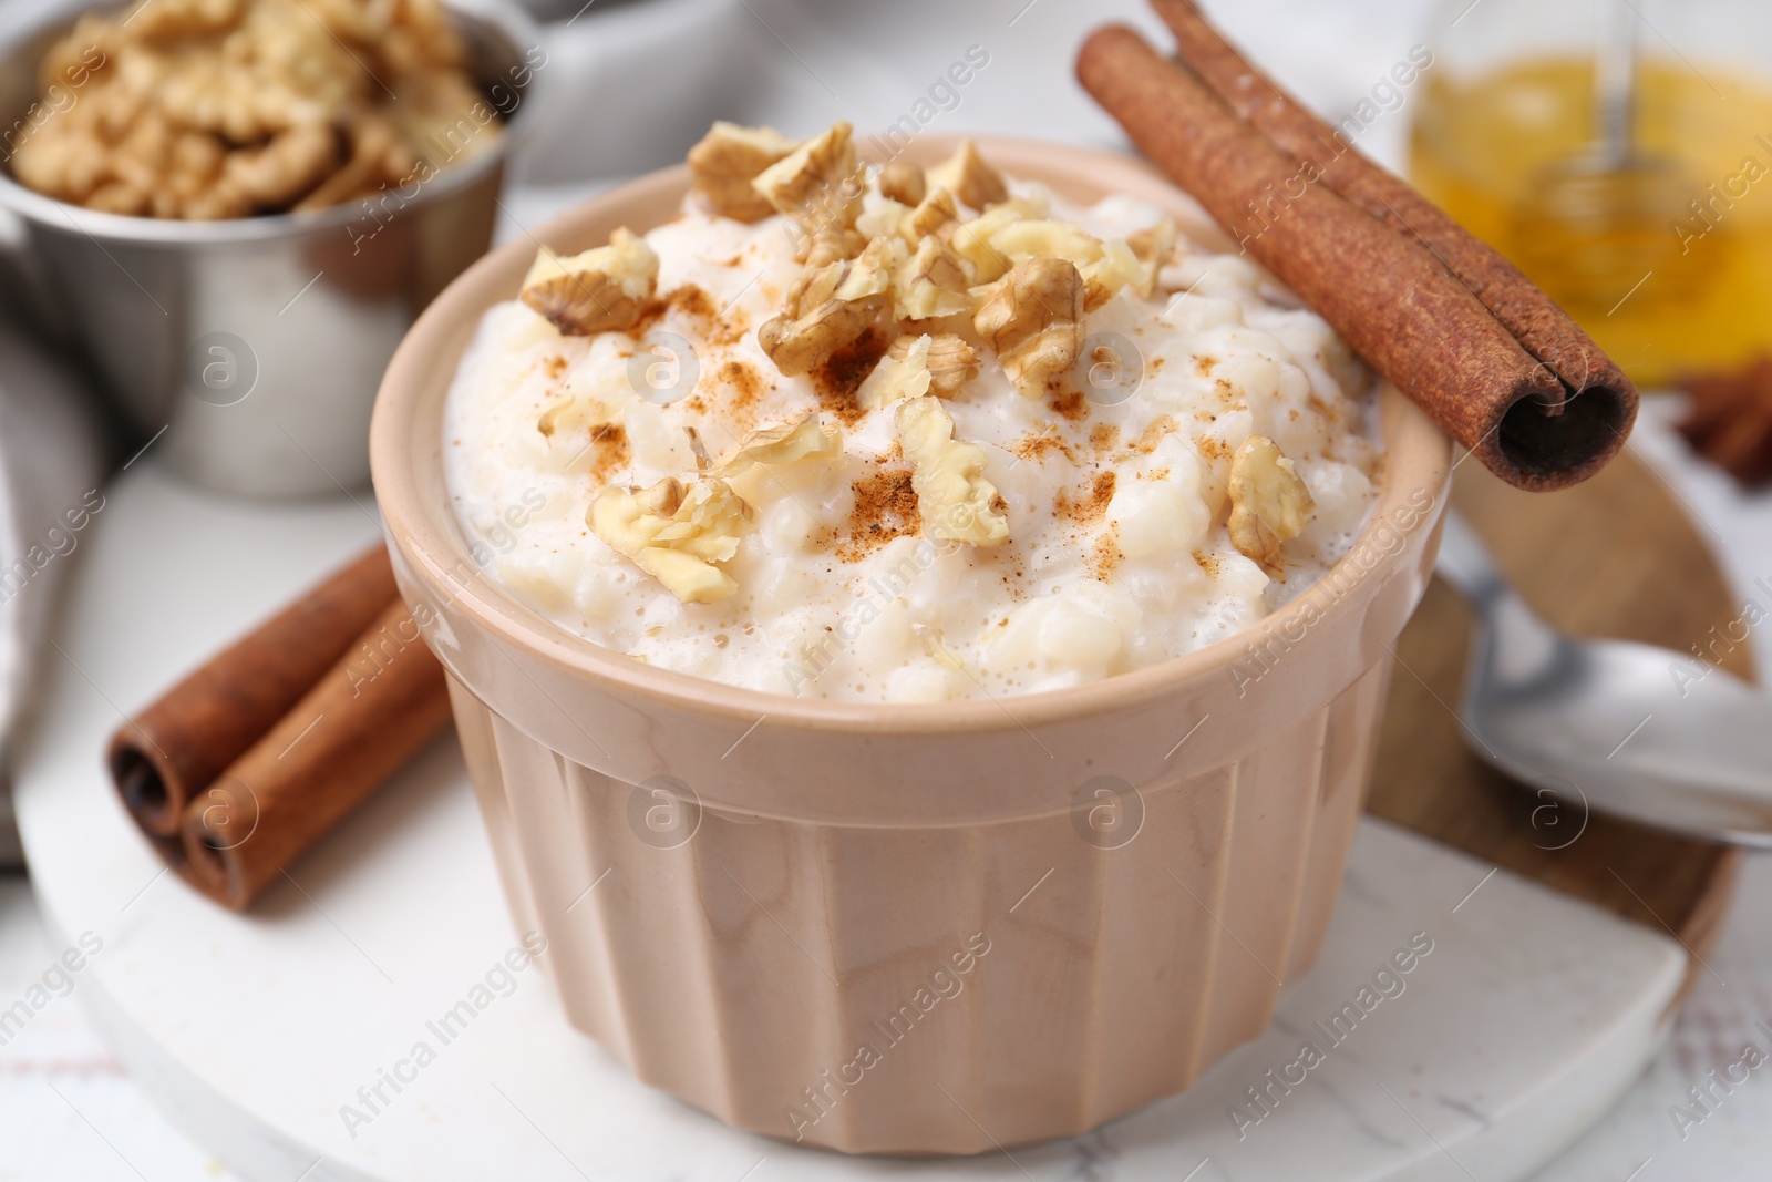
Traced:
<path id="1" fill-rule="evenodd" d="M 53 5 L 39 19 L 25 23 L 0 44 L 0 60 L 18 53 L 28 44 L 62 34 L 73 28 L 74 21 L 89 12 L 122 11 L 131 0 L 76 0 L 73 4 Z M 473 25 L 486 25 L 510 39 L 512 50 L 519 55 L 525 46 L 542 46 L 546 37 L 540 25 L 516 4 L 516 0 L 443 0 L 443 7 L 455 18 L 457 28 L 464 35 L 475 32 Z M 462 27 L 462 23 L 468 23 Z M 434 181 L 425 183 L 411 202 L 434 202 L 461 191 L 487 172 L 501 168 L 509 158 L 514 138 L 523 136 L 533 119 L 535 85 L 540 71 L 525 87 L 517 110 L 505 117 L 505 135 L 487 151 L 464 159 L 454 168 L 443 168 Z M 484 82 L 484 80 L 480 80 Z M 399 190 L 393 190 L 399 191 Z M 328 206 L 310 213 L 273 213 L 252 218 L 220 218 L 214 222 L 190 222 L 184 218 L 136 218 L 120 213 L 87 209 L 57 197 L 48 197 L 12 177 L 9 163 L 0 161 L 0 209 L 7 209 L 35 225 L 60 232 L 78 232 L 99 243 L 126 246 L 230 246 L 239 243 L 280 241 L 299 237 L 315 230 L 338 230 L 353 222 L 363 220 L 360 202 Z"/>

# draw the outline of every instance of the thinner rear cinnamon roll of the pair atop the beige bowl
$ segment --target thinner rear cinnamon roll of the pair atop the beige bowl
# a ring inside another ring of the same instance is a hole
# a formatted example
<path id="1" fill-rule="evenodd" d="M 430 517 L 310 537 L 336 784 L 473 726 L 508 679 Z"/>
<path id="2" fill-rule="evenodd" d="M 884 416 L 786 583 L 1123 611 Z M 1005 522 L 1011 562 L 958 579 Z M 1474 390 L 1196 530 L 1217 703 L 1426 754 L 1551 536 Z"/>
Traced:
<path id="1" fill-rule="evenodd" d="M 1625 372 L 1519 268 L 1255 69 L 1193 0 L 1152 0 L 1152 7 L 1175 34 L 1180 58 L 1232 110 L 1301 163 L 1315 165 L 1336 193 L 1432 250 L 1558 376 L 1566 397 L 1593 393 L 1636 406 Z M 1561 415 L 1563 406 L 1543 413 Z"/>

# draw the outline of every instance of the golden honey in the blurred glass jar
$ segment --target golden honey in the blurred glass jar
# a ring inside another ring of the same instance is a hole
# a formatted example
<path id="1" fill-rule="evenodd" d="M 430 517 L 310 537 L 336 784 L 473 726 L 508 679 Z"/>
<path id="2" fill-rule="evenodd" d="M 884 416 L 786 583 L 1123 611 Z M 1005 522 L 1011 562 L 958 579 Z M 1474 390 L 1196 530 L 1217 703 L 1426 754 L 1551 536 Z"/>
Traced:
<path id="1" fill-rule="evenodd" d="M 1584 165 L 1595 67 L 1563 57 L 1428 76 L 1411 172 L 1653 388 L 1772 351 L 1772 82 L 1653 57 L 1639 71 L 1644 167 Z"/>

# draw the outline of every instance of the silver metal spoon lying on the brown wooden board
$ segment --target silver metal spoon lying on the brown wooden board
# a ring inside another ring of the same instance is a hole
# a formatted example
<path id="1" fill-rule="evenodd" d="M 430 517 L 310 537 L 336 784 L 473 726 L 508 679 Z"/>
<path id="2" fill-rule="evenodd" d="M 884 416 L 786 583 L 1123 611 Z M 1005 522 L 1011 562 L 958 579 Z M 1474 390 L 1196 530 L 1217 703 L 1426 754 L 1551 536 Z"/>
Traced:
<path id="1" fill-rule="evenodd" d="M 1478 617 L 1458 716 L 1478 755 L 1598 812 L 1772 847 L 1772 700 L 1671 649 L 1563 636 L 1455 512 L 1435 572 Z"/>

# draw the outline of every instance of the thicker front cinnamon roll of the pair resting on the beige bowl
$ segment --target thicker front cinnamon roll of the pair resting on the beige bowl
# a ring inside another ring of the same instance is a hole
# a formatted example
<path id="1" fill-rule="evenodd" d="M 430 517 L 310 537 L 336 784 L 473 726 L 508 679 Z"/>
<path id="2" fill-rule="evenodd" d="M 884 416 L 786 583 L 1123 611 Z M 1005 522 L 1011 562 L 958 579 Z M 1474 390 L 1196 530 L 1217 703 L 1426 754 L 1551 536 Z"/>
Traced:
<path id="1" fill-rule="evenodd" d="M 1136 32 L 1097 30 L 1077 57 L 1077 78 L 1256 261 L 1499 477 L 1526 489 L 1565 487 L 1623 447 L 1634 390 L 1570 399 L 1419 241 L 1310 183 L 1310 165 Z"/>

